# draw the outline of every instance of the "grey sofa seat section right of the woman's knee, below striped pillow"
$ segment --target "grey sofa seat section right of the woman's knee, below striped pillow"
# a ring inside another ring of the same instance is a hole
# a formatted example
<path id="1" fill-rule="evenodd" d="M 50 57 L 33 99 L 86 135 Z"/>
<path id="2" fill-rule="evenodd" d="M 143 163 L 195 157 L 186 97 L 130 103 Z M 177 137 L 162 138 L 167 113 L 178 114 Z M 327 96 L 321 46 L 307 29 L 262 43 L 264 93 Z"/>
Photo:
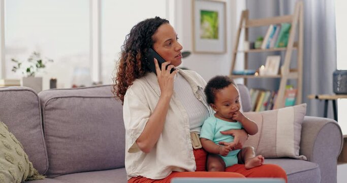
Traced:
<path id="1" fill-rule="evenodd" d="M 265 159 L 266 164 L 276 164 L 287 172 L 288 183 L 290 182 L 320 182 L 321 170 L 319 165 L 304 160 L 290 158 Z"/>

